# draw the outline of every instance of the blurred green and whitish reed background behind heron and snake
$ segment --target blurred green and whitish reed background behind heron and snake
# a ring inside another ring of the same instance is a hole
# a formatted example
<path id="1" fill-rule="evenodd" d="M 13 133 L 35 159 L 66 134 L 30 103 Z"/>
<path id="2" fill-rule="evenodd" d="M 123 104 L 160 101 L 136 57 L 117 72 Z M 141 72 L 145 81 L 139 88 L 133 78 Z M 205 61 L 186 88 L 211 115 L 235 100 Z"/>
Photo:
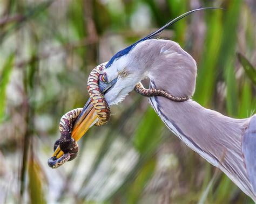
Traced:
<path id="1" fill-rule="evenodd" d="M 0 203 L 253 203 L 136 93 L 111 107 L 109 124 L 86 133 L 76 160 L 56 170 L 47 164 L 60 117 L 88 99 L 90 71 L 202 5 L 226 10 L 193 13 L 160 38 L 196 59 L 195 101 L 249 117 L 255 0 L 1 0 Z"/>

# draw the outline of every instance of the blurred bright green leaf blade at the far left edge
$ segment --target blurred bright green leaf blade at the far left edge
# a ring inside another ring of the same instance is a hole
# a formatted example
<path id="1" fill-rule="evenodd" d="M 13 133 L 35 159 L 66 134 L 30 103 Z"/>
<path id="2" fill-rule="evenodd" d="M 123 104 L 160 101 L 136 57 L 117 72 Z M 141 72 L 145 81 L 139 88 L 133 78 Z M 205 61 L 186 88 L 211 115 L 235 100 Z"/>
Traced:
<path id="1" fill-rule="evenodd" d="M 14 56 L 15 56 L 14 54 L 9 55 L 2 69 L 2 74 L 0 79 L 0 122 L 4 119 L 4 116 L 5 116 L 6 87 L 10 80 L 10 75 L 13 68 Z"/>

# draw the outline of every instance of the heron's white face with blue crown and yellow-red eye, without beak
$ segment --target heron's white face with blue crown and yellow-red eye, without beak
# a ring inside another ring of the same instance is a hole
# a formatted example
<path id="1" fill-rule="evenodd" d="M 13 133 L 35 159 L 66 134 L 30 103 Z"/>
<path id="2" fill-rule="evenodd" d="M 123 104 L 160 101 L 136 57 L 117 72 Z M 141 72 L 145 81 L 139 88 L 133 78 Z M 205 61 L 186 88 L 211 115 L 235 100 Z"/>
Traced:
<path id="1" fill-rule="evenodd" d="M 134 89 L 135 85 L 146 77 L 146 73 L 140 69 L 138 61 L 134 59 L 133 52 L 137 44 L 117 52 L 103 69 L 99 78 L 99 86 L 104 83 L 111 86 L 104 94 L 109 105 L 121 102 Z"/>

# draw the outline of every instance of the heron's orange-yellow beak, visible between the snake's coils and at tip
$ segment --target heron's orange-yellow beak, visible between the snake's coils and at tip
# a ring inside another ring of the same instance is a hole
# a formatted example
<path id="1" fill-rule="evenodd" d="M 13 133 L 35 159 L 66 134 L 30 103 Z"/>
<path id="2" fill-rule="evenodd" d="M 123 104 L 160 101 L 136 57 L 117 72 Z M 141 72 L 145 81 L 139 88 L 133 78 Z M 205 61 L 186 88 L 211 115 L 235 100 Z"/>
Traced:
<path id="1" fill-rule="evenodd" d="M 80 113 L 79 117 L 77 118 L 75 125 L 73 127 L 71 136 L 76 140 L 76 142 L 83 137 L 85 132 L 91 128 L 97 122 L 97 114 L 91 100 L 85 104 L 82 112 Z M 57 159 L 63 155 L 63 151 L 60 150 L 58 146 L 55 152 L 53 153 L 52 157 L 56 157 Z"/>

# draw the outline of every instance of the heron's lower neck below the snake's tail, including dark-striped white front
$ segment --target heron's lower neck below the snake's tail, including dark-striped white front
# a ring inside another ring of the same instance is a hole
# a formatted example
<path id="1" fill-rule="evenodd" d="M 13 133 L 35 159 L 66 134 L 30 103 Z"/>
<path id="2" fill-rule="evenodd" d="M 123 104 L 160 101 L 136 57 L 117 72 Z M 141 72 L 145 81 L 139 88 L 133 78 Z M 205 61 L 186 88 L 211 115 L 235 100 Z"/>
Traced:
<path id="1" fill-rule="evenodd" d="M 241 150 L 242 133 L 249 118 L 230 118 L 192 100 L 173 102 L 151 97 L 149 101 L 166 126 L 186 145 L 219 167 L 242 191 L 253 195 Z"/>

